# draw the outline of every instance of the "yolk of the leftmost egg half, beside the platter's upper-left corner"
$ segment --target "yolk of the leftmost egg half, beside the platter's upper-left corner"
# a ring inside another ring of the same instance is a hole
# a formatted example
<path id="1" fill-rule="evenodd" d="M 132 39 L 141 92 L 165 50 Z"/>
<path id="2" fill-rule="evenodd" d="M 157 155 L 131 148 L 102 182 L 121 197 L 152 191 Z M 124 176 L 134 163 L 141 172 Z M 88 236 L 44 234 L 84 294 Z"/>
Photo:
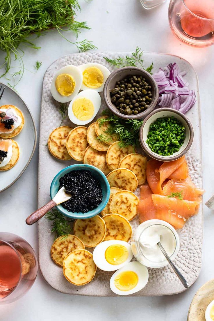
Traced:
<path id="1" fill-rule="evenodd" d="M 70 96 L 75 89 L 75 80 L 69 74 L 61 74 L 56 77 L 56 90 L 62 96 Z"/>

